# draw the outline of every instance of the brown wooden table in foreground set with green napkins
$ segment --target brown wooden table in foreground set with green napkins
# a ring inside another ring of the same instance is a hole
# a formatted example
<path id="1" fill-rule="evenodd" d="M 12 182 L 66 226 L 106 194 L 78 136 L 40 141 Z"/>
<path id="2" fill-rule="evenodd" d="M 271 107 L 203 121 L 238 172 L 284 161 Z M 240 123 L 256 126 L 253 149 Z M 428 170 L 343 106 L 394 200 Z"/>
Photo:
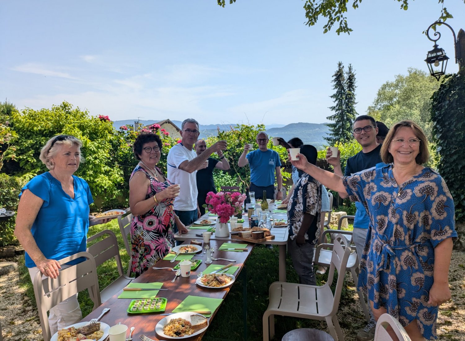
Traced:
<path id="1" fill-rule="evenodd" d="M 190 241 L 190 240 L 189 240 Z M 221 244 L 225 241 L 223 240 L 215 240 L 213 239 L 210 241 L 210 247 L 215 247 L 218 249 Z M 241 243 L 245 243 L 239 241 Z M 188 242 L 186 242 L 188 244 Z M 248 251 L 244 252 L 234 252 L 234 251 L 222 251 L 221 255 L 215 251 L 213 257 L 215 258 L 228 258 L 228 259 L 235 259 L 237 260 L 234 265 L 239 266 L 239 269 L 234 273 L 234 276 L 237 278 L 241 271 L 244 268 L 245 262 L 247 258 L 250 256 L 250 253 L 253 248 L 253 244 L 248 244 Z M 167 288 L 169 290 L 166 291 L 159 291 L 157 297 L 166 297 L 167 304 L 166 310 L 164 313 L 171 313 L 174 308 L 176 308 L 179 303 L 181 303 L 188 295 L 194 296 L 203 296 L 203 297 L 212 297 L 212 298 L 220 298 L 224 299 L 229 292 L 230 287 L 224 289 L 215 289 L 215 288 L 203 288 L 199 287 L 195 284 L 197 280 L 197 274 L 199 271 L 203 271 L 208 267 L 210 264 L 205 264 L 206 255 L 203 253 L 202 257 L 194 256 L 193 259 L 202 259 L 202 263 L 200 266 L 191 272 L 190 277 L 181 277 L 179 276 L 178 279 L 171 283 L 174 278 L 175 273 L 170 270 L 154 270 L 149 269 L 138 278 L 133 280 L 132 283 L 150 283 L 150 282 L 163 282 L 162 288 Z M 173 267 L 179 261 L 175 261 L 171 263 L 170 261 L 159 261 L 156 263 L 156 267 Z M 212 264 L 221 264 L 226 265 L 228 261 L 213 261 Z M 235 283 L 233 283 L 235 285 Z M 156 324 L 163 319 L 165 316 L 160 316 L 160 314 L 128 314 L 126 312 L 127 307 L 129 306 L 131 300 L 133 299 L 119 299 L 118 295 L 120 293 L 113 295 L 108 301 L 104 302 L 100 307 L 95 309 L 92 313 L 86 316 L 82 321 L 90 321 L 92 318 L 96 318 L 100 315 L 104 308 L 110 308 L 110 311 L 106 313 L 101 319 L 101 322 L 108 324 L 109 326 L 114 326 L 121 322 L 121 324 L 125 324 L 128 327 L 127 336 L 129 336 L 129 328 L 135 327 L 133 333 L 133 339 L 139 340 L 141 334 L 148 336 L 153 340 L 169 340 L 167 338 L 163 338 L 155 333 L 155 326 Z M 215 314 L 217 313 L 218 309 L 212 312 L 212 316 L 208 318 L 208 323 L 213 319 Z M 199 341 L 202 339 L 205 332 L 195 335 L 192 338 L 189 338 L 189 341 L 195 340 Z"/>

